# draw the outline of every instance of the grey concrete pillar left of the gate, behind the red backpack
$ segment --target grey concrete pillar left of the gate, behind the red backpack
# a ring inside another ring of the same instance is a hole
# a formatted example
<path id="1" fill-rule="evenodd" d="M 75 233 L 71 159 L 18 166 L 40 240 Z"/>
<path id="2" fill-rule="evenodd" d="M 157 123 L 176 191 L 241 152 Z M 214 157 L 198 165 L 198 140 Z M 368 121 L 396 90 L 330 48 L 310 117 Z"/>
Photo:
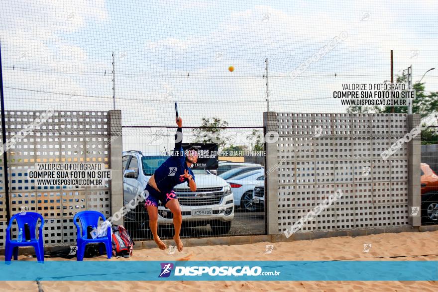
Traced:
<path id="1" fill-rule="evenodd" d="M 123 174 L 122 174 L 122 132 L 121 132 L 121 110 L 109 110 L 109 167 L 112 171 L 110 181 L 109 199 L 111 200 L 110 214 L 113 216 L 123 207 Z M 117 216 L 118 217 L 118 216 Z M 123 224 L 123 216 L 113 218 L 112 224 Z"/>

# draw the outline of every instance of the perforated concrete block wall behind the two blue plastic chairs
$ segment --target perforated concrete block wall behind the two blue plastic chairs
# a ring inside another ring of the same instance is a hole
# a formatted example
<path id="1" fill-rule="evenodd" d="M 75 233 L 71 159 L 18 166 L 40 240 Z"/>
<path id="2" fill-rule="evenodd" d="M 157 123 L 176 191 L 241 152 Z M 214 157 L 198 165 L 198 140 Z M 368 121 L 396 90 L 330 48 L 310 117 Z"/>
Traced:
<path id="1" fill-rule="evenodd" d="M 6 111 L 7 139 L 32 123 L 41 113 L 32 110 Z M 102 212 L 108 218 L 123 204 L 121 141 L 120 110 L 54 111 L 54 115 L 45 123 L 37 126 L 7 151 L 11 215 L 23 207 L 38 212 L 44 217 L 45 246 L 74 245 L 75 213 L 92 209 Z M 38 187 L 27 179 L 27 170 L 37 162 L 104 163 L 112 169 L 112 180 L 104 186 Z M 1 174 L 2 165 L 1 161 Z M 0 177 L 1 249 L 7 226 L 4 175 Z M 14 226 L 12 231 L 16 233 Z"/>

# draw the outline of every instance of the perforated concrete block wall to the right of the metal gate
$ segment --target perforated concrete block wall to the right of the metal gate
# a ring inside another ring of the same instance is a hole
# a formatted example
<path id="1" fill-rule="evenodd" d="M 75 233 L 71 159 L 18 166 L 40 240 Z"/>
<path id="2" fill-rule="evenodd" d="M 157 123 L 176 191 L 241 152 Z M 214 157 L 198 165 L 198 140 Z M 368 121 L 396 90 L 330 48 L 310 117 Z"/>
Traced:
<path id="1" fill-rule="evenodd" d="M 299 232 L 412 224 L 417 140 L 409 151 L 404 143 L 388 159 L 380 155 L 410 131 L 407 121 L 406 114 L 265 112 L 266 131 L 279 134 L 265 145 L 266 169 L 284 161 L 267 176 L 268 234 L 283 233 L 336 190 L 342 197 Z"/>

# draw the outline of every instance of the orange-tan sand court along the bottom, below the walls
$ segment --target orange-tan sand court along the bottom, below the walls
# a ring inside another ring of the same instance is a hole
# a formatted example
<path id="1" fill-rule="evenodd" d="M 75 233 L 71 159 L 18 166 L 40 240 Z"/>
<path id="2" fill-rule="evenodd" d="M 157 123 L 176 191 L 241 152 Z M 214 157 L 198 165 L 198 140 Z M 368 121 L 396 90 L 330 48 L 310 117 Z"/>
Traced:
<path id="1" fill-rule="evenodd" d="M 383 233 L 359 237 L 331 237 L 293 242 L 135 250 L 129 259 L 109 261 L 438 261 L 438 231 Z M 268 246 L 268 247 L 267 247 Z M 273 248 L 272 248 L 273 246 Z M 270 252 L 270 253 L 269 253 Z M 3 260 L 3 257 L 0 258 Z M 20 261 L 34 259 L 20 256 Z M 64 259 L 46 259 L 64 260 Z M 85 261 L 107 261 L 105 256 Z M 438 267 L 438 266 L 437 266 Z M 412 271 L 416 273 L 416 271 Z M 438 270 L 437 270 L 438 273 Z M 122 280 L 122 279 L 118 279 Z M 122 291 L 437 291 L 436 281 L 41 281 L 44 292 Z M 0 291 L 38 291 L 36 282 L 2 282 Z M 41 291 L 41 290 L 40 290 Z"/>

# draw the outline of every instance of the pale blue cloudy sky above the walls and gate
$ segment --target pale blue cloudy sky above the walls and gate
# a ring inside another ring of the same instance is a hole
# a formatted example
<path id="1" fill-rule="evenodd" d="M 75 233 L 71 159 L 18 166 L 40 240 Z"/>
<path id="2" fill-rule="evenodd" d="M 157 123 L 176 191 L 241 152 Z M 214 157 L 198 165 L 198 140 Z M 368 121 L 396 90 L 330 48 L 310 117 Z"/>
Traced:
<path id="1" fill-rule="evenodd" d="M 332 91 L 389 80 L 391 49 L 395 74 L 413 64 L 419 80 L 436 67 L 423 81 L 438 91 L 436 1 L 1 3 L 3 82 L 14 110 L 111 109 L 113 51 L 126 125 L 173 125 L 178 101 L 190 125 L 219 116 L 233 126 L 260 126 L 265 58 L 276 111 L 344 111 Z M 290 78 L 342 31 L 342 43 Z"/>

